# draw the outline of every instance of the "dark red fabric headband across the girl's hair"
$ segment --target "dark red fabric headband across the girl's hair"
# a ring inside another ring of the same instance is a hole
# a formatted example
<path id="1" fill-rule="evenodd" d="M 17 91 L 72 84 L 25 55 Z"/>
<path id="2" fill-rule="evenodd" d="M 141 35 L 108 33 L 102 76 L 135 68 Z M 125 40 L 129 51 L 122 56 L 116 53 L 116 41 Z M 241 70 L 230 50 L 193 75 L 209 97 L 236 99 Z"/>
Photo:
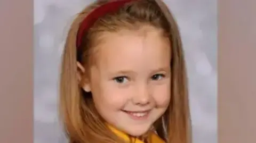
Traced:
<path id="1" fill-rule="evenodd" d="M 97 21 L 101 16 L 104 16 L 107 13 L 117 11 L 121 6 L 131 1 L 134 0 L 119 0 L 109 2 L 101 5 L 97 9 L 93 10 L 89 15 L 87 15 L 86 18 L 82 21 L 77 33 L 77 48 L 82 44 L 82 36 L 84 32 L 87 31 L 94 24 L 95 21 Z"/>

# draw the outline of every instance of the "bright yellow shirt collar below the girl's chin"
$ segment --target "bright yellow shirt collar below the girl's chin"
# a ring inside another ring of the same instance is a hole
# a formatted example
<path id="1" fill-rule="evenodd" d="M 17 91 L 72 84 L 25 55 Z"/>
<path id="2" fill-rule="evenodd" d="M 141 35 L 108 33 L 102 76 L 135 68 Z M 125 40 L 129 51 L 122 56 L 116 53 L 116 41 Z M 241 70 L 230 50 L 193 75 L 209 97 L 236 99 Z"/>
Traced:
<path id="1" fill-rule="evenodd" d="M 129 137 L 127 136 L 126 133 L 122 132 L 122 131 L 119 131 L 117 130 L 116 128 L 114 127 L 111 127 L 109 125 L 109 128 L 118 136 L 118 137 L 121 137 L 123 138 L 125 141 L 129 141 Z M 153 133 L 151 135 L 151 140 L 152 140 L 152 143 L 165 143 L 156 133 Z M 145 143 L 139 139 L 136 139 L 134 143 Z"/>

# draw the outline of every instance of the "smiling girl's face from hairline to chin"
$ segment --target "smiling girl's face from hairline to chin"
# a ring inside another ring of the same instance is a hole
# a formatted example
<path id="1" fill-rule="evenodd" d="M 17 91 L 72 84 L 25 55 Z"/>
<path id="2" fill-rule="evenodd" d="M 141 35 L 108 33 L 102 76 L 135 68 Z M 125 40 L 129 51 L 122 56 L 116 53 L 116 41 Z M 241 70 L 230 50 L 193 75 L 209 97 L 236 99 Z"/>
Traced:
<path id="1" fill-rule="evenodd" d="M 170 43 L 152 27 L 102 36 L 84 89 L 107 123 L 140 136 L 170 103 Z"/>

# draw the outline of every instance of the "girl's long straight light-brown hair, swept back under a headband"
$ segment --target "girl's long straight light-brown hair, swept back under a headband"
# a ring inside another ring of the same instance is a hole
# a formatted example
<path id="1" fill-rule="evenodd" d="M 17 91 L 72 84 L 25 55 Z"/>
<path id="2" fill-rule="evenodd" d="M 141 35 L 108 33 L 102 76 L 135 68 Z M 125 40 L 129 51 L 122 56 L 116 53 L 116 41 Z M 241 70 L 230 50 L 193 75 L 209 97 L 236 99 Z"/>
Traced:
<path id="1" fill-rule="evenodd" d="M 84 18 L 109 1 L 97 1 L 87 6 L 71 24 L 63 51 L 60 77 L 60 117 L 70 143 L 122 142 L 115 136 L 95 110 L 90 92 L 84 92 L 77 78 L 77 61 L 85 67 L 91 63 L 92 47 L 102 32 L 117 32 L 122 28 L 138 28 L 145 24 L 162 29 L 170 39 L 172 50 L 171 101 L 164 115 L 156 121 L 155 130 L 168 143 L 190 142 L 190 115 L 185 60 L 177 23 L 161 0 L 137 0 L 127 3 L 113 14 L 98 19 L 83 36 L 77 52 L 77 32 Z M 135 25 L 135 26 L 134 26 Z M 80 53 L 81 55 L 79 56 Z M 77 59 L 79 56 L 79 59 Z"/>

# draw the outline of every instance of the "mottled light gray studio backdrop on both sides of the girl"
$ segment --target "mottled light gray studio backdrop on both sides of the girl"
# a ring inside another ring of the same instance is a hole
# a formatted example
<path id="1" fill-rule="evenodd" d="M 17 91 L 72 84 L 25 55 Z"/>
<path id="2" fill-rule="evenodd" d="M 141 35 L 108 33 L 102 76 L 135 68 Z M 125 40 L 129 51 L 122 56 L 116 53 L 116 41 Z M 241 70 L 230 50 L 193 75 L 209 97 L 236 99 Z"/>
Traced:
<path id="1" fill-rule="evenodd" d="M 66 142 L 58 122 L 60 56 L 74 15 L 89 0 L 34 1 L 34 142 Z M 185 48 L 194 143 L 217 143 L 217 0 L 165 0 Z"/>

